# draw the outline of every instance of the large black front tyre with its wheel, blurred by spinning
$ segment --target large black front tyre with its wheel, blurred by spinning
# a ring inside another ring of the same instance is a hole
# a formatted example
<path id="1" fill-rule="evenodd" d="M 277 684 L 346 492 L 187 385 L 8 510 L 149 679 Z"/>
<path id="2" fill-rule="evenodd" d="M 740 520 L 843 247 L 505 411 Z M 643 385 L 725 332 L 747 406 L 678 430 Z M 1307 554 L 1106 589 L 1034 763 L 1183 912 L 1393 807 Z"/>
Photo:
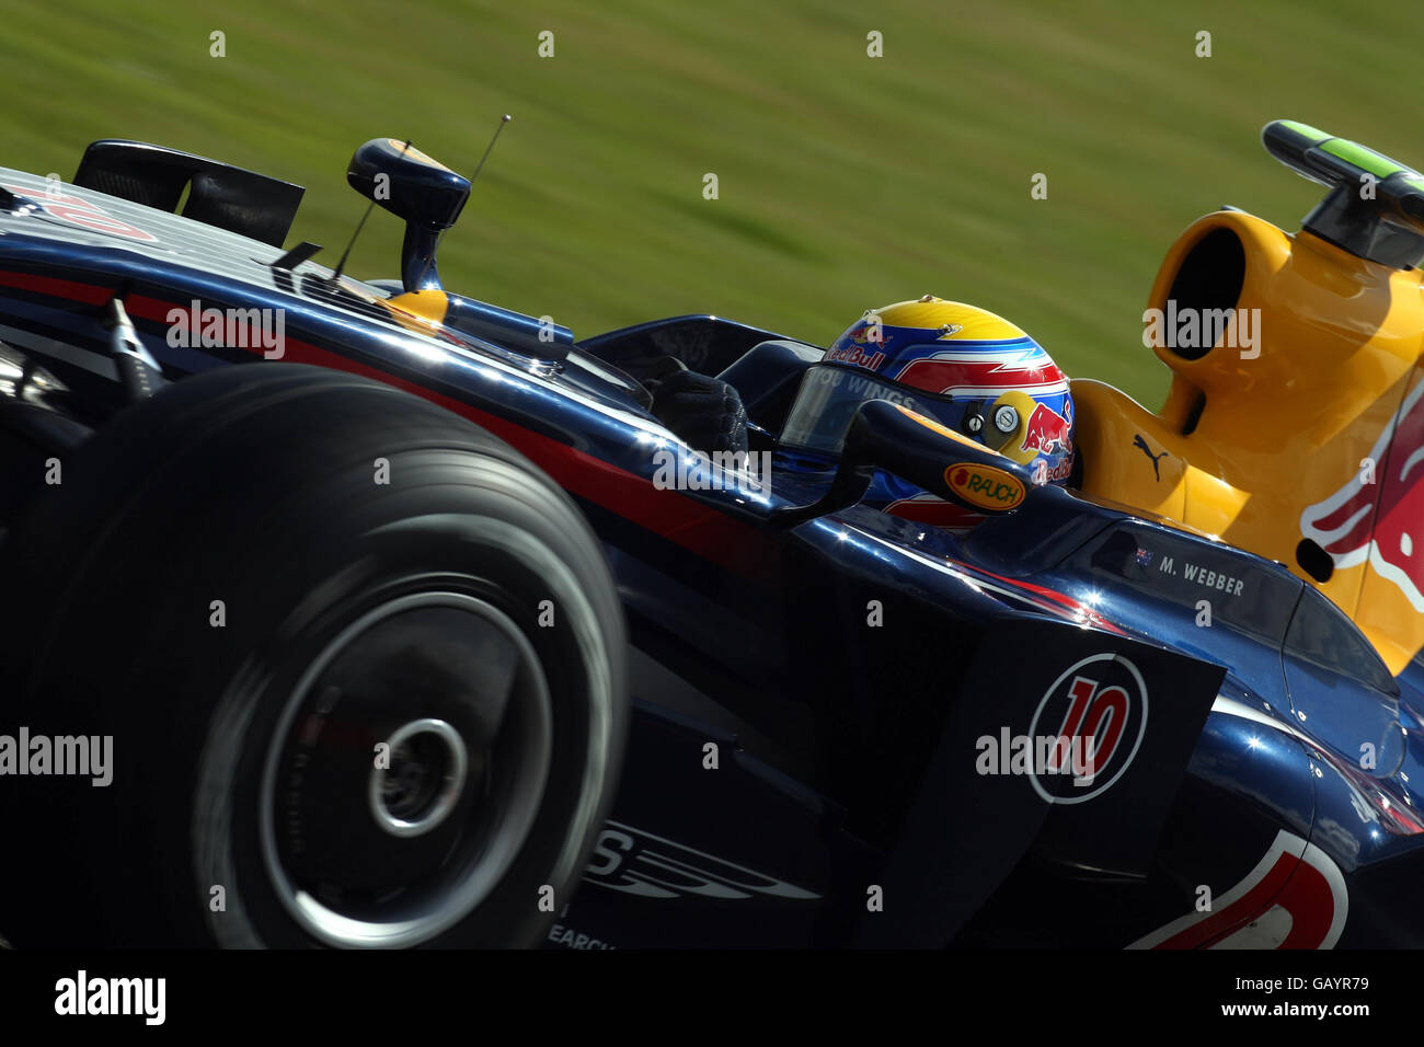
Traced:
<path id="1" fill-rule="evenodd" d="M 70 454 L 0 568 L 17 947 L 547 934 L 617 786 L 625 634 L 511 447 L 366 379 L 221 368 Z"/>

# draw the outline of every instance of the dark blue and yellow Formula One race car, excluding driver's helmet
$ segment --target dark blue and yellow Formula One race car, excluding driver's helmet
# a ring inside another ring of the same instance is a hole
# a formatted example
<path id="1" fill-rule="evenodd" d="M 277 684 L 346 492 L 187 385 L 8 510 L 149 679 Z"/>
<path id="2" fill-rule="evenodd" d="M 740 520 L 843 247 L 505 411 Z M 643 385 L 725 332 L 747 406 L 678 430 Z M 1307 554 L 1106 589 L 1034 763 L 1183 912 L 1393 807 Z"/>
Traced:
<path id="1" fill-rule="evenodd" d="M 0 168 L 0 932 L 1424 943 L 1424 179 L 1265 141 L 1329 197 L 1186 229 L 1068 487 L 874 395 L 810 467 L 817 346 L 444 291 L 409 142 L 400 281 L 225 164 Z"/>

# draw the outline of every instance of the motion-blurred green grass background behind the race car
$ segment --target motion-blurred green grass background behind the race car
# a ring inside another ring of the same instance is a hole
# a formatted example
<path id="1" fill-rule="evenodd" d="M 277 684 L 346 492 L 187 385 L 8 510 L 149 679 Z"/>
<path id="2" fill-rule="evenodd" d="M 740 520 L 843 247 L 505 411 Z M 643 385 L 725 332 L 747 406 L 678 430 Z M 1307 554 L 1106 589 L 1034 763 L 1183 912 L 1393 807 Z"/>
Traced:
<path id="1" fill-rule="evenodd" d="M 0 0 L 0 165 L 70 178 L 104 137 L 231 161 L 306 185 L 290 242 L 333 264 L 360 217 L 357 144 L 409 137 L 468 174 L 513 113 L 441 249 L 454 291 L 577 336 L 716 312 L 820 343 L 934 292 L 1156 406 L 1166 370 L 1141 316 L 1172 238 L 1225 202 L 1294 229 L 1319 198 L 1266 157 L 1262 124 L 1424 164 L 1397 10 Z M 349 271 L 396 276 L 399 244 L 373 218 Z"/>

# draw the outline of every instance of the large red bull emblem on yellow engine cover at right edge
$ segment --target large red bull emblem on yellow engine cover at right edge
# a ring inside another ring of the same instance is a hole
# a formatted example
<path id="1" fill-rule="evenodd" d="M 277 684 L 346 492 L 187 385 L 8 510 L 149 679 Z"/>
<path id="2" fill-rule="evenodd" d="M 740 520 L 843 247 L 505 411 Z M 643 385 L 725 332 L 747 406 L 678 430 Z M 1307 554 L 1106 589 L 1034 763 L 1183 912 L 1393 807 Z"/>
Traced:
<path id="1" fill-rule="evenodd" d="M 1302 536 L 1324 548 L 1337 568 L 1367 563 L 1415 611 L 1424 611 L 1424 548 L 1414 556 L 1414 530 L 1424 520 L 1421 477 L 1424 380 L 1415 382 L 1360 472 L 1300 514 Z"/>

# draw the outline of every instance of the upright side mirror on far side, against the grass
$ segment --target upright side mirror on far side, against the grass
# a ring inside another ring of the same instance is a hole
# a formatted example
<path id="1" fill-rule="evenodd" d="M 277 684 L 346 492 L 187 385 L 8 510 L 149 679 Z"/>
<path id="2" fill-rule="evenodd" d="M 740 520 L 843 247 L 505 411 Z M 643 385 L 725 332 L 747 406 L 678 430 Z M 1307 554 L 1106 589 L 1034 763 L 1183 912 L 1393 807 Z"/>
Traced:
<path id="1" fill-rule="evenodd" d="M 406 222 L 400 282 L 406 291 L 440 288 L 436 248 L 470 198 L 468 179 L 394 138 L 372 138 L 352 154 L 346 181 Z"/>

